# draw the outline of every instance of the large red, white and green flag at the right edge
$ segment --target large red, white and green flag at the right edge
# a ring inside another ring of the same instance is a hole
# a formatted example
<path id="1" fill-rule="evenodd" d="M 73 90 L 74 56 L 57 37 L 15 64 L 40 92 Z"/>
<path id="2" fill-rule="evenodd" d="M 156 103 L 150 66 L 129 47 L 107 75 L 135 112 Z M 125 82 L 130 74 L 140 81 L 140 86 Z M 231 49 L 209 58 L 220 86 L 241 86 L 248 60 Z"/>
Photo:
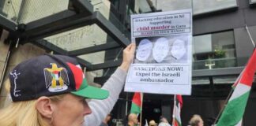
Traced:
<path id="1" fill-rule="evenodd" d="M 234 92 L 228 100 L 217 126 L 235 126 L 239 125 L 243 119 L 243 113 L 247 106 L 247 100 L 250 95 L 250 88 L 254 80 L 254 72 L 256 69 L 256 51 L 247 62 L 247 66 L 239 76 L 238 83 L 233 85 Z"/>

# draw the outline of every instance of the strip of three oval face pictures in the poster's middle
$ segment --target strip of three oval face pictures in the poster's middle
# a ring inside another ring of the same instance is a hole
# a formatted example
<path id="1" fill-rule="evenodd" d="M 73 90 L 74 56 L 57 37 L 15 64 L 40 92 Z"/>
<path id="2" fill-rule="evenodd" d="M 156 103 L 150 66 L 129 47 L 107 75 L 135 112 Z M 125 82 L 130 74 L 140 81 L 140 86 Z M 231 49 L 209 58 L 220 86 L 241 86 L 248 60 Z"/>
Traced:
<path id="1" fill-rule="evenodd" d="M 134 63 L 187 63 L 186 35 L 136 38 Z"/>

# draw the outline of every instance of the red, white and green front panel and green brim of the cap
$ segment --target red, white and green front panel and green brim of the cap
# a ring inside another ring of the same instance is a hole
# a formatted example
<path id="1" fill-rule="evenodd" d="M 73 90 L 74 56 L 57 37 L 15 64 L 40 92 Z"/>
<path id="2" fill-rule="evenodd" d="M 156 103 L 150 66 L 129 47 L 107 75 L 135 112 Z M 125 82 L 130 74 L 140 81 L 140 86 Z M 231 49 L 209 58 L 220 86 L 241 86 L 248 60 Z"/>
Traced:
<path id="1" fill-rule="evenodd" d="M 71 71 L 73 72 L 73 78 L 75 80 L 76 91 L 71 92 L 73 95 L 95 99 L 104 99 L 108 97 L 108 91 L 88 85 L 80 65 L 73 65 L 71 63 L 67 63 L 67 65 L 69 65 Z"/>

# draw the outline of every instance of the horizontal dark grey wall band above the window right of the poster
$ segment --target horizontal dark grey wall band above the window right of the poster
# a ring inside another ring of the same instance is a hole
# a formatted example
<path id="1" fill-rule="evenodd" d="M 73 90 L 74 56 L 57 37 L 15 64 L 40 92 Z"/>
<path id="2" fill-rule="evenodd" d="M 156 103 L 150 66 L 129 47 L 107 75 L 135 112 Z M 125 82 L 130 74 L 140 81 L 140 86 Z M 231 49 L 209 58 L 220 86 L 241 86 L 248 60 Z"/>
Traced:
<path id="1" fill-rule="evenodd" d="M 194 35 L 216 31 L 227 31 L 256 25 L 256 8 L 250 7 L 249 0 L 237 0 L 238 8 L 219 13 L 209 13 L 193 19 Z"/>

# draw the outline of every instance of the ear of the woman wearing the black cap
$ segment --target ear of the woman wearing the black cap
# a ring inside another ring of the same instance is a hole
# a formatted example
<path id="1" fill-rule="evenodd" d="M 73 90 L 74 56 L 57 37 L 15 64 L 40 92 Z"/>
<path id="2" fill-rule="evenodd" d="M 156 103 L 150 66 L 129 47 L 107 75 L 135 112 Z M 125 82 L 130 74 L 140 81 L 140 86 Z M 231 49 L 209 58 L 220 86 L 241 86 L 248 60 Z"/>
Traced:
<path id="1" fill-rule="evenodd" d="M 54 106 L 50 98 L 42 96 L 36 100 L 36 109 L 42 117 L 51 118 Z"/>

